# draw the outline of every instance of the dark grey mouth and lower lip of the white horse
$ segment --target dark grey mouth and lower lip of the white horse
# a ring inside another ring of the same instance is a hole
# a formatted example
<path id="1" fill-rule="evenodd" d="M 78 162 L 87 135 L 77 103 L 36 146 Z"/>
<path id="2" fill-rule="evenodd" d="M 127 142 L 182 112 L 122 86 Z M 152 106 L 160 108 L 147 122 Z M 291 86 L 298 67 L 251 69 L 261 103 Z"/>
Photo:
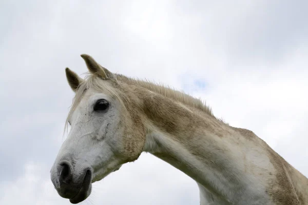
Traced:
<path id="1" fill-rule="evenodd" d="M 86 198 L 88 198 L 88 196 L 91 194 L 92 191 L 91 181 L 92 181 L 92 173 L 90 170 L 88 170 L 85 174 L 82 186 L 78 194 L 76 194 L 76 196 L 74 196 L 73 198 L 69 199 L 69 201 L 71 203 L 80 203 Z"/>

